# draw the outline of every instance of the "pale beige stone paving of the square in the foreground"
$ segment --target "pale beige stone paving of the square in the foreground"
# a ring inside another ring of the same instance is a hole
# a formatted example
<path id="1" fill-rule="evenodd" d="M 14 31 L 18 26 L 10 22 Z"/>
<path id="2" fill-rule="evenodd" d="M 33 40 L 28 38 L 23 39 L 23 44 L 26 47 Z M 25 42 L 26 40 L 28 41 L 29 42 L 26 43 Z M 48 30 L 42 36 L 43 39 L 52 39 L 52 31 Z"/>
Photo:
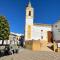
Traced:
<path id="1" fill-rule="evenodd" d="M 0 57 L 0 60 L 60 60 L 60 53 L 53 51 L 34 52 L 21 48 L 18 54 Z"/>

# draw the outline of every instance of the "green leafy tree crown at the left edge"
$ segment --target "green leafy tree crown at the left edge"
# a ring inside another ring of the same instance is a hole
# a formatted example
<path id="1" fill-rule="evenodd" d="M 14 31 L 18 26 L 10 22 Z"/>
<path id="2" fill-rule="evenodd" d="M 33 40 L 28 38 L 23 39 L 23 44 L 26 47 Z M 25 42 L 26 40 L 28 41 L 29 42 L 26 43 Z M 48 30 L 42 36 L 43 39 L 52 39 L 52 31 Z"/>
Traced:
<path id="1" fill-rule="evenodd" d="M 9 23 L 4 16 L 0 16 L 0 40 L 8 40 L 9 34 Z"/>

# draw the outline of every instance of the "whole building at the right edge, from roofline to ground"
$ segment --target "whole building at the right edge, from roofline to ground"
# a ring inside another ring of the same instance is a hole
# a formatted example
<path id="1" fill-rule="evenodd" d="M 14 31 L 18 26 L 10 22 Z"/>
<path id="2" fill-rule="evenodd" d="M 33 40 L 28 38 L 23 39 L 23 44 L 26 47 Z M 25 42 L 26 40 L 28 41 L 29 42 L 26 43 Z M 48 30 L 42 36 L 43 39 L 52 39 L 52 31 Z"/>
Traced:
<path id="1" fill-rule="evenodd" d="M 54 40 L 54 51 L 60 52 L 60 20 L 53 24 L 52 31 Z"/>

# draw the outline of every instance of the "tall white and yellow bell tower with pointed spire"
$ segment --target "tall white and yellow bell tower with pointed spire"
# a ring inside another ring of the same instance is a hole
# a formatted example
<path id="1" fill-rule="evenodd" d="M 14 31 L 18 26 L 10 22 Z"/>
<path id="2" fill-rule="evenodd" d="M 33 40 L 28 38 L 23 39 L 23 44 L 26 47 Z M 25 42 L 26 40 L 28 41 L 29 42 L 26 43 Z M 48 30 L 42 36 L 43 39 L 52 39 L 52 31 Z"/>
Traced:
<path id="1" fill-rule="evenodd" d="M 32 27 L 33 27 L 34 9 L 29 1 L 26 7 L 26 20 L 25 20 L 25 40 L 32 40 Z"/>

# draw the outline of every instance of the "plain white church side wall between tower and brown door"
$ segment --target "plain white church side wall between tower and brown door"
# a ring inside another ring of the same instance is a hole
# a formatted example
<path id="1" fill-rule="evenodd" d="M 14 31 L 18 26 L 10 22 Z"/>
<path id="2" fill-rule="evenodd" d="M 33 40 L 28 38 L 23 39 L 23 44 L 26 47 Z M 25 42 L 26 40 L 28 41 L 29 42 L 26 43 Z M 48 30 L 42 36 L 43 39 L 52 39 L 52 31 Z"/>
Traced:
<path id="1" fill-rule="evenodd" d="M 43 30 L 43 32 L 41 32 Z M 33 26 L 32 39 L 34 40 L 48 40 L 47 31 L 51 31 L 51 27 L 48 26 Z M 43 36 L 43 39 L 41 39 Z"/>

